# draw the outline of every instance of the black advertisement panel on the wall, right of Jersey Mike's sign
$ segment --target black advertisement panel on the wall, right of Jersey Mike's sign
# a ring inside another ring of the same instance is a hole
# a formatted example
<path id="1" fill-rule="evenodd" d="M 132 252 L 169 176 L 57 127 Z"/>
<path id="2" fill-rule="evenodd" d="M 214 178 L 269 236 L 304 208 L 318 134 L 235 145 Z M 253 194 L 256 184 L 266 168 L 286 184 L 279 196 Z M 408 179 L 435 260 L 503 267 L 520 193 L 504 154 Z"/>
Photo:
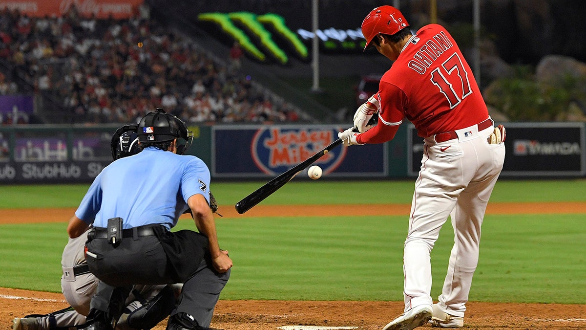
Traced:
<path id="1" fill-rule="evenodd" d="M 504 123 L 506 156 L 501 177 L 562 177 L 586 174 L 586 133 L 582 123 Z M 408 133 L 411 176 L 417 176 L 423 139 Z"/>

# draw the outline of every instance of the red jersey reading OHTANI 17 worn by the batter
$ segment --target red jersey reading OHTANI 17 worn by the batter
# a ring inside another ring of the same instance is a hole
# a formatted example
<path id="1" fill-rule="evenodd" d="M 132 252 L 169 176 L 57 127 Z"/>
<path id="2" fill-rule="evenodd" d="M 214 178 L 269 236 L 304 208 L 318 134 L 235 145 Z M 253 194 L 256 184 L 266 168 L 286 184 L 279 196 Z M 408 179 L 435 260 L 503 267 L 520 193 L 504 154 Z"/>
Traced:
<path id="1" fill-rule="evenodd" d="M 426 25 L 411 37 L 381 78 L 377 95 L 379 122 L 357 136 L 359 143 L 393 139 L 404 118 L 421 137 L 488 118 L 472 69 L 454 38 L 437 24 Z"/>

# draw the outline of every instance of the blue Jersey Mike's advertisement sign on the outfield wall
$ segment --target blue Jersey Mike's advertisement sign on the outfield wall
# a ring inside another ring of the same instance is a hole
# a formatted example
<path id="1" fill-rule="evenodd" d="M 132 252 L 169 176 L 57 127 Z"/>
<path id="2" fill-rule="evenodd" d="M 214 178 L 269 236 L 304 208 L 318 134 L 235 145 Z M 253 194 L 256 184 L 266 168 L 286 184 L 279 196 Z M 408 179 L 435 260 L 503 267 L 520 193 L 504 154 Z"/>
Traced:
<path id="1" fill-rule="evenodd" d="M 275 177 L 338 139 L 343 127 L 214 127 L 212 176 Z M 331 177 L 386 176 L 384 144 L 336 147 L 314 164 Z M 301 176 L 309 179 L 307 176 Z"/>

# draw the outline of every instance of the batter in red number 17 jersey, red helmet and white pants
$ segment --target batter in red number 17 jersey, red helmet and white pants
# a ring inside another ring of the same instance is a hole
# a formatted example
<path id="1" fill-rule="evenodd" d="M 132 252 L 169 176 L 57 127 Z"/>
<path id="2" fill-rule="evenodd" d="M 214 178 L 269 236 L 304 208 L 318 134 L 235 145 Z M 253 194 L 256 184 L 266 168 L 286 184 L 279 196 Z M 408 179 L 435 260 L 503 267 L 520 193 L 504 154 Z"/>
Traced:
<path id="1" fill-rule="evenodd" d="M 384 329 L 431 322 L 461 328 L 478 264 L 486 204 L 505 160 L 505 129 L 493 126 L 481 92 L 454 38 L 440 25 L 412 34 L 392 6 L 374 8 L 362 22 L 367 48 L 393 61 L 379 91 L 357 109 L 345 146 L 393 139 L 407 119 L 424 139 L 404 246 L 404 313 Z M 378 113 L 374 127 L 369 119 Z M 454 247 L 439 302 L 433 305 L 430 253 L 451 217 Z"/>

